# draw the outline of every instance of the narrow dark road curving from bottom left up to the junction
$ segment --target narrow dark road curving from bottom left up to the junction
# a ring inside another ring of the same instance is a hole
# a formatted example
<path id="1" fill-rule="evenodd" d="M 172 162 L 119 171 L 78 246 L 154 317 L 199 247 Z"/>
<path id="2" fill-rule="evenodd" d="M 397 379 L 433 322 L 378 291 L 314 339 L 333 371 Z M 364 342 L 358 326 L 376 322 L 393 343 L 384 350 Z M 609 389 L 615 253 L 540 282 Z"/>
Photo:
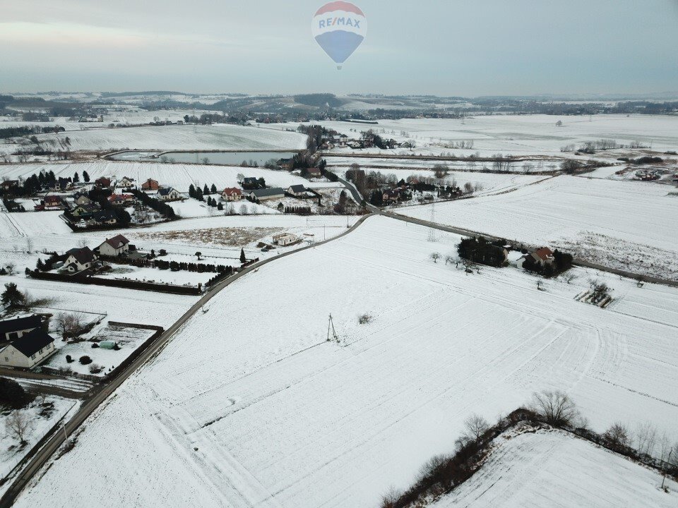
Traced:
<path id="1" fill-rule="evenodd" d="M 290 250 L 290 252 L 283 253 L 280 255 L 273 256 L 272 258 L 268 258 L 263 261 L 256 262 L 254 265 L 251 265 L 249 267 L 246 267 L 242 272 L 238 272 L 237 274 L 234 274 L 232 277 L 229 277 L 228 279 L 225 279 L 224 281 L 216 284 L 210 291 L 208 291 L 200 300 L 198 300 L 196 303 L 194 303 L 189 310 L 182 315 L 182 317 L 179 318 L 177 322 L 174 323 L 171 327 L 169 327 L 160 337 L 157 338 L 153 344 L 150 344 L 147 349 L 141 353 L 138 358 L 136 358 L 135 361 L 133 361 L 129 367 L 126 369 L 122 370 L 119 375 L 114 377 L 112 380 L 110 380 L 107 385 L 102 386 L 102 388 L 98 391 L 95 392 L 95 394 L 92 395 L 89 399 L 85 401 L 81 409 L 71 418 L 71 420 L 65 424 L 65 429 L 66 433 L 69 436 L 72 436 L 73 433 L 78 430 L 78 428 L 83 424 L 83 422 L 90 416 L 96 409 L 113 393 L 115 390 L 122 385 L 125 380 L 127 380 L 133 373 L 135 373 L 139 368 L 141 368 L 147 361 L 149 361 L 151 358 L 157 355 L 162 348 L 169 342 L 172 337 L 174 337 L 174 334 L 176 334 L 179 329 L 181 329 L 186 322 L 193 317 L 201 308 L 208 303 L 214 296 L 216 296 L 219 291 L 224 289 L 225 287 L 229 286 L 233 282 L 237 281 L 241 277 L 244 277 L 246 274 L 249 272 L 258 269 L 259 267 L 262 267 L 263 265 L 267 265 L 270 262 L 273 262 L 275 260 L 279 260 L 280 258 L 285 258 L 288 255 L 292 255 L 295 253 L 298 253 L 302 250 L 307 250 L 310 248 L 314 248 L 316 246 L 323 245 L 323 243 L 328 243 L 331 241 L 334 241 L 338 238 L 341 238 L 347 234 L 349 234 L 351 231 L 356 229 L 360 224 L 362 224 L 365 219 L 368 217 L 371 217 L 372 214 L 364 215 L 363 217 L 360 217 L 353 226 L 350 227 L 350 229 L 347 229 L 343 233 L 339 234 L 338 236 L 334 236 L 333 238 L 328 238 L 327 240 L 319 241 L 317 243 L 313 243 L 309 246 L 299 248 L 297 250 Z M 26 485 L 30 482 L 30 480 L 36 475 L 38 471 L 40 471 L 40 468 L 44 466 L 44 464 L 47 464 L 47 461 L 52 457 L 52 455 L 57 452 L 59 447 L 61 447 L 61 444 L 64 443 L 66 438 L 64 437 L 64 432 L 59 432 L 54 433 L 54 435 L 47 441 L 47 443 L 43 444 L 42 448 L 35 452 L 35 455 L 32 456 L 32 459 L 28 462 L 28 464 L 25 466 L 23 471 L 18 474 L 16 478 L 14 478 L 11 486 L 8 488 L 8 490 L 5 492 L 5 494 L 0 498 L 0 508 L 9 508 L 14 504 L 16 501 L 17 497 L 20 495 L 20 493 L 23 491 Z"/>

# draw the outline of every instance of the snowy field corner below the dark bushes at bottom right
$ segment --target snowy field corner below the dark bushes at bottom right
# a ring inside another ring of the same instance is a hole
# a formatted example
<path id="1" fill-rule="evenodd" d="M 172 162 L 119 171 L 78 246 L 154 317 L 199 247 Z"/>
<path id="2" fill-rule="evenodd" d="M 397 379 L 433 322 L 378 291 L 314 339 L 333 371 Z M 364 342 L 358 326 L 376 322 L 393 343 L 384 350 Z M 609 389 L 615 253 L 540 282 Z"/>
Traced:
<path id="1" fill-rule="evenodd" d="M 507 436 L 509 437 L 509 436 Z M 559 431 L 497 440 L 475 476 L 430 508 L 670 508 L 678 485 L 648 468 Z"/>

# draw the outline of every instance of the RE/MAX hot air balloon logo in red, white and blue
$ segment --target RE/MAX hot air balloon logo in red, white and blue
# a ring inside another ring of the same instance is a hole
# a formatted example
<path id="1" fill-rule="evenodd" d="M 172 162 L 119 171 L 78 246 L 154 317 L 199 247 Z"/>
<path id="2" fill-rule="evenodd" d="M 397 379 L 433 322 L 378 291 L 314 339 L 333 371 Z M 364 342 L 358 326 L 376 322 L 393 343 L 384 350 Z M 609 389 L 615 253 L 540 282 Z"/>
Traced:
<path id="1" fill-rule="evenodd" d="M 355 5 L 333 1 L 318 9 L 311 30 L 316 42 L 340 69 L 367 35 L 367 20 Z"/>

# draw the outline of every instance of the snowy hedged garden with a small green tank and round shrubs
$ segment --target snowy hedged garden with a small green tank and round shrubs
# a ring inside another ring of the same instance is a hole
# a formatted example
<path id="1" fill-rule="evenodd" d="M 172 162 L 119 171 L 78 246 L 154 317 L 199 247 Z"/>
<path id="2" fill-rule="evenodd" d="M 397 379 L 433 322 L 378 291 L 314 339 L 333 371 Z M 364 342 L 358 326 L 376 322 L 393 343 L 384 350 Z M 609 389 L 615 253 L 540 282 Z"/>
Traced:
<path id="1" fill-rule="evenodd" d="M 140 316 L 134 317 L 141 320 Z M 144 341 L 149 339 L 155 330 L 107 325 L 99 327 L 93 334 L 82 340 L 67 343 L 56 341 L 57 353 L 49 357 L 46 367 L 63 370 L 64 373 L 77 373 L 105 377 L 120 363 L 126 360 Z M 119 349 L 93 348 L 93 344 L 101 341 L 112 341 Z M 66 360 L 70 356 L 72 361 Z M 90 363 L 81 363 L 80 358 L 88 356 Z"/>

